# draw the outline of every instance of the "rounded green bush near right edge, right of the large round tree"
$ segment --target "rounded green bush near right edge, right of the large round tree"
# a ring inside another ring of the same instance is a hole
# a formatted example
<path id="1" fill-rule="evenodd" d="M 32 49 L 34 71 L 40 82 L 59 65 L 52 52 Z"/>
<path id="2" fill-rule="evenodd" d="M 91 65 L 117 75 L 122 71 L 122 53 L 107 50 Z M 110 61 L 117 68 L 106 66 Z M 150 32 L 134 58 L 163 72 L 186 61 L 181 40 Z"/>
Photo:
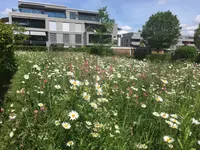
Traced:
<path id="1" fill-rule="evenodd" d="M 183 46 L 175 51 L 173 60 L 194 61 L 197 56 L 197 49 L 195 47 Z"/>

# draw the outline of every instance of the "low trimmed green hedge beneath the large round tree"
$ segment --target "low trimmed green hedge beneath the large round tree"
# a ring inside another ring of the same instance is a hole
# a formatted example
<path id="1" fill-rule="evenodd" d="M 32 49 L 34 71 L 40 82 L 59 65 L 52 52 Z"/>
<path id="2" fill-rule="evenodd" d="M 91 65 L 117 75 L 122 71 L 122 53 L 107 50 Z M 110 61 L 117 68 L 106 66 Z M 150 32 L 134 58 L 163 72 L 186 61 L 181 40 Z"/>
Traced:
<path id="1" fill-rule="evenodd" d="M 146 59 L 150 61 L 156 61 L 156 62 L 170 61 L 171 55 L 170 54 L 150 54 L 150 55 L 147 55 Z"/>

